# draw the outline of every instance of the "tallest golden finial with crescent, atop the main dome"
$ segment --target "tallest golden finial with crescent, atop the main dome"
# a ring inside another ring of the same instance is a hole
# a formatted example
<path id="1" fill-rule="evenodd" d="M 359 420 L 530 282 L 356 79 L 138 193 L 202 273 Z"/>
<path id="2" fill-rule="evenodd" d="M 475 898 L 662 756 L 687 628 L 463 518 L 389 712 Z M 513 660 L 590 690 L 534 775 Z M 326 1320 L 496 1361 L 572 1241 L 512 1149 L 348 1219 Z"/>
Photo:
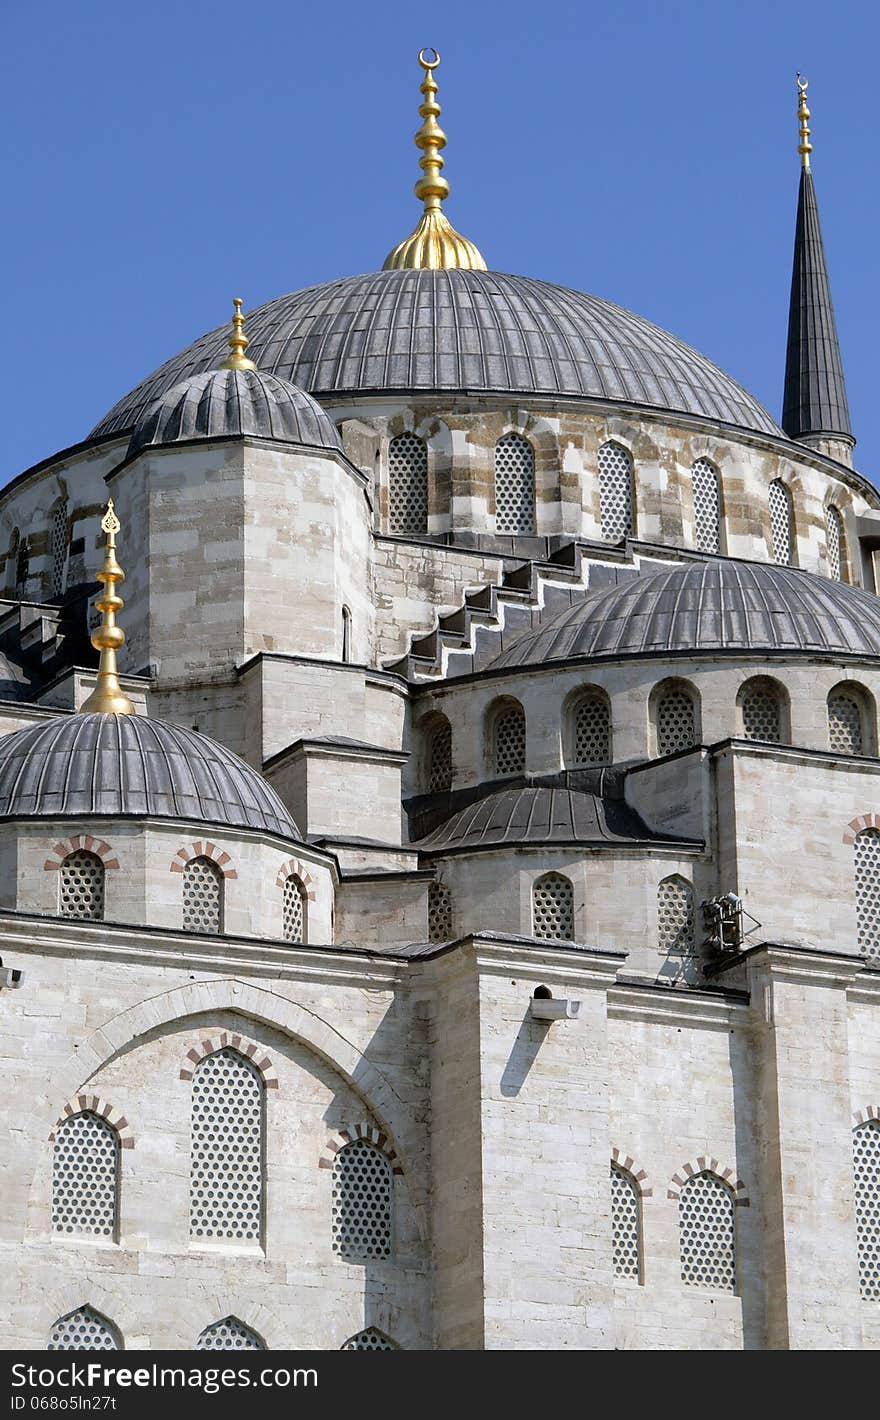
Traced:
<path id="1" fill-rule="evenodd" d="M 434 70 L 440 64 L 437 50 L 420 50 L 419 64 L 424 70 L 422 81 L 424 102 L 419 108 L 423 122 L 416 133 L 416 146 L 422 149 L 419 166 L 424 176 L 416 183 L 416 197 L 424 203 L 424 212 L 416 230 L 389 253 L 382 270 L 457 267 L 464 271 L 485 271 L 485 261 L 474 243 L 460 236 L 443 214 L 441 204 L 443 199 L 449 197 L 449 183 L 440 176 L 443 168 L 440 149 L 446 148 L 446 133 L 437 122 L 440 114 L 434 80 Z"/>

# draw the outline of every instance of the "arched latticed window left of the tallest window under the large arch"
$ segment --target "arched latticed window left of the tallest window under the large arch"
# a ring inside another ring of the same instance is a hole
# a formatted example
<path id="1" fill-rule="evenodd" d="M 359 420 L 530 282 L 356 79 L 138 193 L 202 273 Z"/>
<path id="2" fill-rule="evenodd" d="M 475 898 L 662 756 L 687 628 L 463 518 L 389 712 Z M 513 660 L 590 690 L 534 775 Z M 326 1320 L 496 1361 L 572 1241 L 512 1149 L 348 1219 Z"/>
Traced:
<path id="1" fill-rule="evenodd" d="M 91 1109 L 82 1109 L 55 1130 L 53 1231 L 114 1241 L 118 1208 L 119 1135 Z"/>

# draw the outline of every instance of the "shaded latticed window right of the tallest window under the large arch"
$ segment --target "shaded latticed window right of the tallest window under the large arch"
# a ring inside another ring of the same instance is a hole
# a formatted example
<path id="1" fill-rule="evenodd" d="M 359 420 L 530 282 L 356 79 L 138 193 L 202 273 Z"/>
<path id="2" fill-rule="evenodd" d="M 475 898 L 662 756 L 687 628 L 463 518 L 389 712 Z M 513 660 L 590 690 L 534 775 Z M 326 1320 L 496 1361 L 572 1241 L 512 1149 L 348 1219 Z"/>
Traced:
<path id="1" fill-rule="evenodd" d="M 351 1262 L 392 1254 L 392 1166 L 366 1139 L 345 1145 L 334 1160 L 334 1252 Z"/>

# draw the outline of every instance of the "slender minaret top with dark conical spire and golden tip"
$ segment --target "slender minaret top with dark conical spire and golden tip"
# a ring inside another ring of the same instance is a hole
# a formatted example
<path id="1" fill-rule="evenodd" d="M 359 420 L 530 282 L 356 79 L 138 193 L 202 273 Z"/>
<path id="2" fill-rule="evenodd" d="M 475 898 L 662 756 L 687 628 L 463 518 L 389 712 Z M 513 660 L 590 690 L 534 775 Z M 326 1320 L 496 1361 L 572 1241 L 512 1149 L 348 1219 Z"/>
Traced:
<path id="1" fill-rule="evenodd" d="M 856 440 L 849 422 L 835 308 L 809 165 L 809 155 L 813 151 L 809 141 L 809 116 L 806 80 L 798 75 L 801 189 L 788 315 L 782 427 L 791 439 L 852 467 Z"/>

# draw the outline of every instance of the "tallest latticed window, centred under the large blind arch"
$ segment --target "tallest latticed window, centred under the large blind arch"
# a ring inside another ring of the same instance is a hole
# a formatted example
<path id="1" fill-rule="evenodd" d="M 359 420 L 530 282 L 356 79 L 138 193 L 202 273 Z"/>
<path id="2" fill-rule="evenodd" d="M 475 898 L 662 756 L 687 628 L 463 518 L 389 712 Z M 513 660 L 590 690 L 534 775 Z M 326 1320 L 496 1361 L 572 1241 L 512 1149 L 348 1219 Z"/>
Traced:
<path id="1" fill-rule="evenodd" d="M 237 1051 L 193 1075 L 190 1237 L 258 1242 L 263 1231 L 263 1079 Z"/>

